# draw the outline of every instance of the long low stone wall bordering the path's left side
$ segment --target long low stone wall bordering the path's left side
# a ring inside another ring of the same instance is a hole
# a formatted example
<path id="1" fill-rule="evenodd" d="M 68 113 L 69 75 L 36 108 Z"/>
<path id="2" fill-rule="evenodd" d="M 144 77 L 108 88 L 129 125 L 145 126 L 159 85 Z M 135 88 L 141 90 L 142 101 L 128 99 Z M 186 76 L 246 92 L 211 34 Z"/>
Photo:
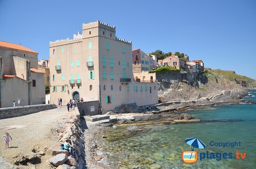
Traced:
<path id="1" fill-rule="evenodd" d="M 0 109 L 0 119 L 29 115 L 44 110 L 57 108 L 54 104 L 38 104 L 32 106 L 6 107 Z"/>

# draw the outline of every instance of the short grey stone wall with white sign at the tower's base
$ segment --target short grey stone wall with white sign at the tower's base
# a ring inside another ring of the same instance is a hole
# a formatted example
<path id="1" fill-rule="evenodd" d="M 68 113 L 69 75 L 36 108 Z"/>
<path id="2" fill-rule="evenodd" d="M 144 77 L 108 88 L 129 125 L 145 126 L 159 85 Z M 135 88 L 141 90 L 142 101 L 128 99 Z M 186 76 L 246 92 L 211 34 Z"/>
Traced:
<path id="1" fill-rule="evenodd" d="M 85 115 L 99 115 L 100 114 L 100 107 L 99 107 L 99 100 L 96 101 L 87 101 L 87 102 L 78 102 L 76 103 L 79 109 L 81 116 Z"/>

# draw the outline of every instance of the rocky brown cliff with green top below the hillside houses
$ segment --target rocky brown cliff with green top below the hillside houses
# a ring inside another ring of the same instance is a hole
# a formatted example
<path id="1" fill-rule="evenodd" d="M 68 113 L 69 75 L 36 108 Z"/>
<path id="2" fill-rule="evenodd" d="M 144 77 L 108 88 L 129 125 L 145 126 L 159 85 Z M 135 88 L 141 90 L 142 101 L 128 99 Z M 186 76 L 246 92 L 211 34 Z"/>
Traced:
<path id="1" fill-rule="evenodd" d="M 229 91 L 228 98 L 240 98 L 239 93 L 256 89 L 256 80 L 233 71 L 205 70 L 205 74 L 157 74 L 158 96 L 164 101 L 197 100 Z M 223 98 L 224 100 L 225 98 Z"/>

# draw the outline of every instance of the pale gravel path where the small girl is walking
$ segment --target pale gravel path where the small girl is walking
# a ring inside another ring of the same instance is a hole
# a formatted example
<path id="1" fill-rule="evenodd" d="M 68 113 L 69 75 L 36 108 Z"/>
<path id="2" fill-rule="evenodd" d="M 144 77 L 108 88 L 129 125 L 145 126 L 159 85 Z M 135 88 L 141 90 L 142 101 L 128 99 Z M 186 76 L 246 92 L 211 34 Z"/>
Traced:
<path id="1" fill-rule="evenodd" d="M 33 146 L 45 147 L 56 144 L 52 135 L 62 115 L 72 114 L 67 112 L 67 107 L 46 110 L 30 115 L 13 117 L 0 120 L 0 137 L 3 139 L 5 132 L 12 137 L 9 149 L 5 149 L 5 143 L 0 142 L 0 157 L 13 163 L 19 154 L 31 152 Z M 6 128 L 8 127 L 8 128 Z M 5 130 L 9 129 L 9 130 Z M 2 169 L 2 163 L 0 163 Z"/>

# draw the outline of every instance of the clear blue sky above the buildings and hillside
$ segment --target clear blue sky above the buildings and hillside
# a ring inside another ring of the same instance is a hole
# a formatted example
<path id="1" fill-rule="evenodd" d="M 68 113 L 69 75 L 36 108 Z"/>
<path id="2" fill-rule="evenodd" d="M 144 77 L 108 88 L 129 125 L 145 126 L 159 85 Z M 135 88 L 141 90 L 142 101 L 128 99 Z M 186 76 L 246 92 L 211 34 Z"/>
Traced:
<path id="1" fill-rule="evenodd" d="M 0 40 L 49 57 L 49 41 L 82 23 L 116 26 L 143 52 L 183 52 L 212 69 L 256 79 L 256 0 L 0 0 Z"/>

